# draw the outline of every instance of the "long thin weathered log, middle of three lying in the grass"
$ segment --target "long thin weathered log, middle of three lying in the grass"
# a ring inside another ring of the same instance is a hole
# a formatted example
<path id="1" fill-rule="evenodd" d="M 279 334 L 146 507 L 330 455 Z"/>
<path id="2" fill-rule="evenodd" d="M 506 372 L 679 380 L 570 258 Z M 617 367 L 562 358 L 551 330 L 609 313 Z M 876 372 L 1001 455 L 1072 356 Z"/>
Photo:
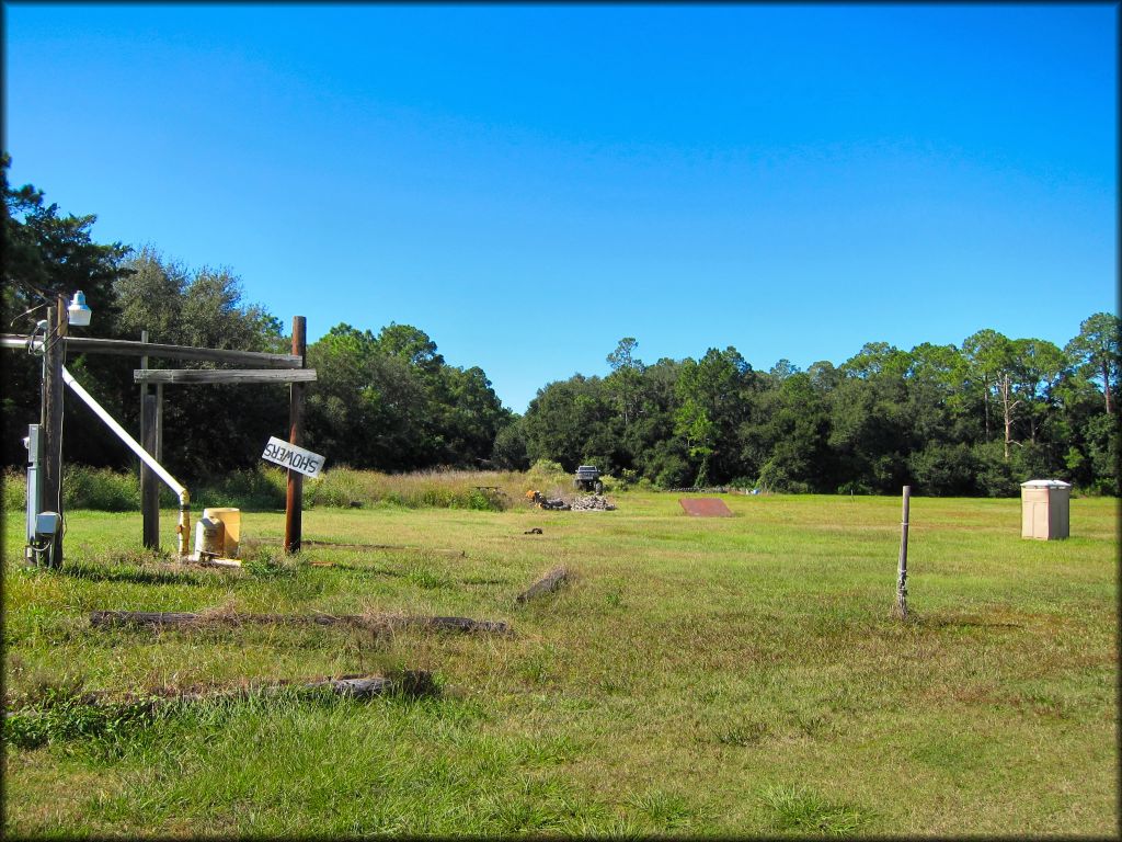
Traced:
<path id="1" fill-rule="evenodd" d="M 181 611 L 91 611 L 90 625 L 110 628 L 116 625 L 192 628 L 223 623 L 309 623 L 314 625 L 352 625 L 358 628 L 386 629 L 420 626 L 439 631 L 468 633 L 509 634 L 511 626 L 502 620 L 471 620 L 463 616 L 410 616 L 403 614 L 195 614 Z"/>

